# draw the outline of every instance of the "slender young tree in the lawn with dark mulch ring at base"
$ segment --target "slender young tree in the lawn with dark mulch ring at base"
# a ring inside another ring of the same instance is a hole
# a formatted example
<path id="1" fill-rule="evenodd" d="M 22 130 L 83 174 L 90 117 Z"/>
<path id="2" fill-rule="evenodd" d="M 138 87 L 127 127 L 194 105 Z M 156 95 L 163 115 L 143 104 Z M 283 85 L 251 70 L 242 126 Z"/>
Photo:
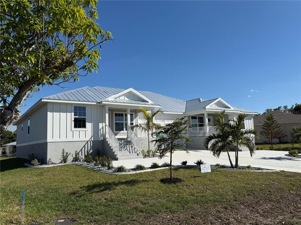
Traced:
<path id="1" fill-rule="evenodd" d="M 160 131 L 154 134 L 163 134 L 164 137 L 153 140 L 155 144 L 158 144 L 158 151 L 160 153 L 159 158 L 162 159 L 166 153 L 170 154 L 170 179 L 172 180 L 172 153 L 175 150 L 188 150 L 186 144 L 190 145 L 191 140 L 188 136 L 188 128 L 191 128 L 189 120 L 187 117 L 182 117 L 181 119 L 176 119 L 174 122 L 166 125 L 165 127 L 160 127 Z M 165 147 L 164 147 L 165 146 Z"/>

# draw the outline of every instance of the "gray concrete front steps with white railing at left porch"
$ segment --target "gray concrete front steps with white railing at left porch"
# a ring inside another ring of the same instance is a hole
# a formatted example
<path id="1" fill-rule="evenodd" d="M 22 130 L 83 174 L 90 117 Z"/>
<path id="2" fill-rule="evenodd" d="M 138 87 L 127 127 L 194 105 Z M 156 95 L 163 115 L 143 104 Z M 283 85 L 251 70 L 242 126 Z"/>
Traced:
<path id="1" fill-rule="evenodd" d="M 117 153 L 113 150 L 113 147 L 111 146 L 108 139 L 106 139 L 106 144 L 112 151 L 112 156 L 114 160 L 127 160 L 127 159 L 143 159 L 143 156 L 138 152 L 138 149 L 135 148 L 135 146 L 132 145 L 132 141 L 127 138 L 119 138 L 117 137 L 117 140 L 119 142 L 119 156 L 117 156 Z"/>

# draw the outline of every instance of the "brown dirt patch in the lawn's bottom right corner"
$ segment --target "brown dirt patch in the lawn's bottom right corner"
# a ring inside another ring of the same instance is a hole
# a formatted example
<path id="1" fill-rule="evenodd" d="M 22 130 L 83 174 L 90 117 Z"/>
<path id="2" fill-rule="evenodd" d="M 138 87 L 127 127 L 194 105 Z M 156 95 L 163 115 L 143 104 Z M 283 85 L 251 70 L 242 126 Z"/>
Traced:
<path id="1" fill-rule="evenodd" d="M 195 205 L 193 209 L 185 209 L 181 213 L 159 214 L 145 224 L 301 224 L 301 193 L 286 192 L 272 198 L 266 195 L 260 197 L 250 196 L 243 203 L 207 209 Z"/>

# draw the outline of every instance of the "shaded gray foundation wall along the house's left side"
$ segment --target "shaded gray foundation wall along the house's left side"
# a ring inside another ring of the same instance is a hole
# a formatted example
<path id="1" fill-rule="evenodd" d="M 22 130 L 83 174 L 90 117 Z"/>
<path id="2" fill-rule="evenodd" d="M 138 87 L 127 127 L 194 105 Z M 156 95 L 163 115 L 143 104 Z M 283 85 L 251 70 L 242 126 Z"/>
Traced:
<path id="1" fill-rule="evenodd" d="M 42 161 L 42 163 L 47 162 L 47 142 L 17 146 L 17 158 L 28 159 L 29 154 L 35 154 L 35 156 Z"/>

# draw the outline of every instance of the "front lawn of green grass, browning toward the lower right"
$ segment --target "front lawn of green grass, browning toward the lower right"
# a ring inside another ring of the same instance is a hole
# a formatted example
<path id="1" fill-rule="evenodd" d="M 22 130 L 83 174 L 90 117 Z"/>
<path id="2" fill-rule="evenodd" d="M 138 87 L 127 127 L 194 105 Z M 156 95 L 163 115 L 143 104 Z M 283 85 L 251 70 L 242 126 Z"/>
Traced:
<path id="1" fill-rule="evenodd" d="M 301 224 L 301 173 L 174 169 L 109 175 L 76 165 L 24 167 L 1 163 L 1 224 Z"/>

